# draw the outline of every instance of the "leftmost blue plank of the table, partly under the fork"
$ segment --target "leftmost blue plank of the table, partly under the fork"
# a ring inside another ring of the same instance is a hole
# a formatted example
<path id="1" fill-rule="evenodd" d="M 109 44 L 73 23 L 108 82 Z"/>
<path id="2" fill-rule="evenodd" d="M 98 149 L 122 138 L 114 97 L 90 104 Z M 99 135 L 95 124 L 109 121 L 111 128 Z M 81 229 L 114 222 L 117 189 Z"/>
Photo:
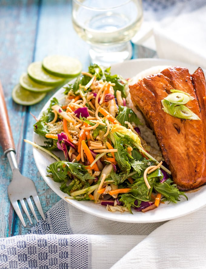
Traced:
<path id="1" fill-rule="evenodd" d="M 19 76 L 32 61 L 38 18 L 38 1 L 0 1 L 0 79 L 4 88 L 8 115 L 18 150 L 18 162 L 22 162 L 22 133 L 25 125 L 26 108 L 15 104 L 11 98 L 13 87 Z M 12 172 L 0 148 L 1 199 L 0 236 L 10 236 L 15 230 L 13 209 L 7 195 Z"/>

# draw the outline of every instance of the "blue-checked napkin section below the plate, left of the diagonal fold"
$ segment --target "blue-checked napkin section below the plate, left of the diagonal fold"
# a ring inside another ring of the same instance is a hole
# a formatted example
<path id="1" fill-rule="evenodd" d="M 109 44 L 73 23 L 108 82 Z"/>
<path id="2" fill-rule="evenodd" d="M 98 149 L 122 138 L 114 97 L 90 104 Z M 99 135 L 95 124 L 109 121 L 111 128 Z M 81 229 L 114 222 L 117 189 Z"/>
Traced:
<path id="1" fill-rule="evenodd" d="M 64 200 L 45 218 L 28 235 L 0 239 L 0 268 L 109 269 L 162 224 L 105 220 Z"/>

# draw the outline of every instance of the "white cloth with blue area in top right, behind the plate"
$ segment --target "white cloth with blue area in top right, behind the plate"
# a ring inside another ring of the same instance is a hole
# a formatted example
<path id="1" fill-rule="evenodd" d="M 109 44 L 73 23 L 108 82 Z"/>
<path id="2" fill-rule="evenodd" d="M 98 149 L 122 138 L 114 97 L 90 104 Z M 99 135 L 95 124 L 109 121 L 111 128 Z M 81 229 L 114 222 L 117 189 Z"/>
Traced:
<path id="1" fill-rule="evenodd" d="M 156 2 L 156 5 L 153 3 L 155 7 L 149 7 L 148 1 L 143 1 L 144 22 L 132 41 L 155 49 L 158 58 L 178 60 L 205 69 L 206 1 L 153 2 Z M 172 5 L 172 2 L 175 3 Z"/>

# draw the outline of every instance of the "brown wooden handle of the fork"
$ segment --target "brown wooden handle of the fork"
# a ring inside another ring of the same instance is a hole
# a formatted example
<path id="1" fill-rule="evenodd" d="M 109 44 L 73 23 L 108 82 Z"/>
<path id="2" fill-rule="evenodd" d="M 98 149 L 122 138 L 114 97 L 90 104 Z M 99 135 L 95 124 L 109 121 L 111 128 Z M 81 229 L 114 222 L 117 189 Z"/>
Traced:
<path id="1" fill-rule="evenodd" d="M 0 143 L 4 154 L 8 151 L 15 151 L 12 129 L 10 126 L 8 112 L 5 103 L 4 91 L 0 80 Z"/>

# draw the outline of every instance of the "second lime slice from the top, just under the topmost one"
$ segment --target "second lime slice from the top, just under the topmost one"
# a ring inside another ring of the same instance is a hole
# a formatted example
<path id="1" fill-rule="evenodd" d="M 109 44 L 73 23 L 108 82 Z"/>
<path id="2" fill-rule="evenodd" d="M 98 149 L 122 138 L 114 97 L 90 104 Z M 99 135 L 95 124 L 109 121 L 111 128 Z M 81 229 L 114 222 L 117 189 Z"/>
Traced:
<path id="1" fill-rule="evenodd" d="M 65 79 L 50 75 L 42 68 L 42 62 L 32 62 L 28 66 L 28 76 L 35 82 L 47 86 L 58 86 L 63 84 Z"/>

